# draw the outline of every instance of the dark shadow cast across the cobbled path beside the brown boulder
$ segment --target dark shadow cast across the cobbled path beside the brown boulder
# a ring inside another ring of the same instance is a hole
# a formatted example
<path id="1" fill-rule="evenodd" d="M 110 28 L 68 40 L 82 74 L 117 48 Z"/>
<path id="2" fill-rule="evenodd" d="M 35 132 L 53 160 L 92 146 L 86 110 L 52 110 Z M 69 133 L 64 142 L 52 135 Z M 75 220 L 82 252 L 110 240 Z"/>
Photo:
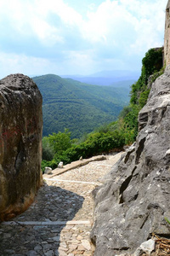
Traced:
<path id="1" fill-rule="evenodd" d="M 31 207 L 11 220 L 14 224 L 0 224 L 1 256 L 58 256 L 60 232 L 82 208 L 83 201 L 84 198 L 76 193 L 45 184 Z M 28 225 L 24 224 L 26 221 L 62 223 Z M 46 254 L 48 252 L 51 254 Z"/>

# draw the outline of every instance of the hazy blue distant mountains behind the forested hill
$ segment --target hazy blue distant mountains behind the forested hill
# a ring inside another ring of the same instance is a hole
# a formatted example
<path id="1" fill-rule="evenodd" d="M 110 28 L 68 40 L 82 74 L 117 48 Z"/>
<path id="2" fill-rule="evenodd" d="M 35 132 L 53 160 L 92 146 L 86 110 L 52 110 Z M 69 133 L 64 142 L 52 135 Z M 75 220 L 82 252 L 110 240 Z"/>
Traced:
<path id="1" fill-rule="evenodd" d="M 117 87 L 119 85 L 128 87 L 139 79 L 140 71 L 129 71 L 129 70 L 114 70 L 114 71 L 101 71 L 88 76 L 80 75 L 62 75 L 62 78 L 74 79 L 86 84 L 95 85 L 111 85 Z M 120 82 L 120 84 L 117 84 Z"/>

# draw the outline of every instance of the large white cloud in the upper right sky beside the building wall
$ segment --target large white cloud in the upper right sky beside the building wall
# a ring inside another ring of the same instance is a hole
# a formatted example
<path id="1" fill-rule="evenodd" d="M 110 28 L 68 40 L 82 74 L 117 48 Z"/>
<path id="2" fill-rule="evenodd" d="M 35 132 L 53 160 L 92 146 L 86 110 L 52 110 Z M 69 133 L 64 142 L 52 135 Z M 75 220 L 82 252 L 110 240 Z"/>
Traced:
<path id="1" fill-rule="evenodd" d="M 88 22 L 84 23 L 82 29 L 83 36 L 92 42 L 103 42 L 103 44 L 107 39 L 113 47 L 115 44 L 123 45 L 122 41 L 126 39 L 127 43 L 131 41 L 133 49 L 139 48 L 139 51 L 155 41 L 157 44 L 162 44 L 158 39 L 158 33 L 162 33 L 164 29 L 165 17 L 162 8 L 164 5 L 160 3 L 161 1 L 149 3 L 139 0 L 121 0 L 119 3 L 106 0 L 99 5 L 96 12 L 88 12 Z M 134 36 L 137 38 L 136 46 L 132 39 Z M 130 44 L 127 47 L 129 46 Z"/>

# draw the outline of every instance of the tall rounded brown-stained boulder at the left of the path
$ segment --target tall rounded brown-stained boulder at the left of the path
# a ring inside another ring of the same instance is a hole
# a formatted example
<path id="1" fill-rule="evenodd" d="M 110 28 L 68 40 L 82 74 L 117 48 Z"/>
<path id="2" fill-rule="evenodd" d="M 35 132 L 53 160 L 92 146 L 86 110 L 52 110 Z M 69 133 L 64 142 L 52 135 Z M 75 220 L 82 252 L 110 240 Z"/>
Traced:
<path id="1" fill-rule="evenodd" d="M 32 79 L 0 80 L 0 220 L 31 204 L 41 183 L 42 96 Z"/>

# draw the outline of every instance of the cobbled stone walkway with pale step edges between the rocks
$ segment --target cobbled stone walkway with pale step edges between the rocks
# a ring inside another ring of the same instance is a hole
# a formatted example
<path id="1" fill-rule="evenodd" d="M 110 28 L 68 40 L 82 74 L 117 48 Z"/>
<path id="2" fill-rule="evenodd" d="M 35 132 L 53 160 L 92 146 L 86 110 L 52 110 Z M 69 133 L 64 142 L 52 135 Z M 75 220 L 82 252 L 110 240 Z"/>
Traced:
<path id="1" fill-rule="evenodd" d="M 121 154 L 57 176 L 46 175 L 31 207 L 0 224 L 0 255 L 92 256 L 92 190 Z"/>

